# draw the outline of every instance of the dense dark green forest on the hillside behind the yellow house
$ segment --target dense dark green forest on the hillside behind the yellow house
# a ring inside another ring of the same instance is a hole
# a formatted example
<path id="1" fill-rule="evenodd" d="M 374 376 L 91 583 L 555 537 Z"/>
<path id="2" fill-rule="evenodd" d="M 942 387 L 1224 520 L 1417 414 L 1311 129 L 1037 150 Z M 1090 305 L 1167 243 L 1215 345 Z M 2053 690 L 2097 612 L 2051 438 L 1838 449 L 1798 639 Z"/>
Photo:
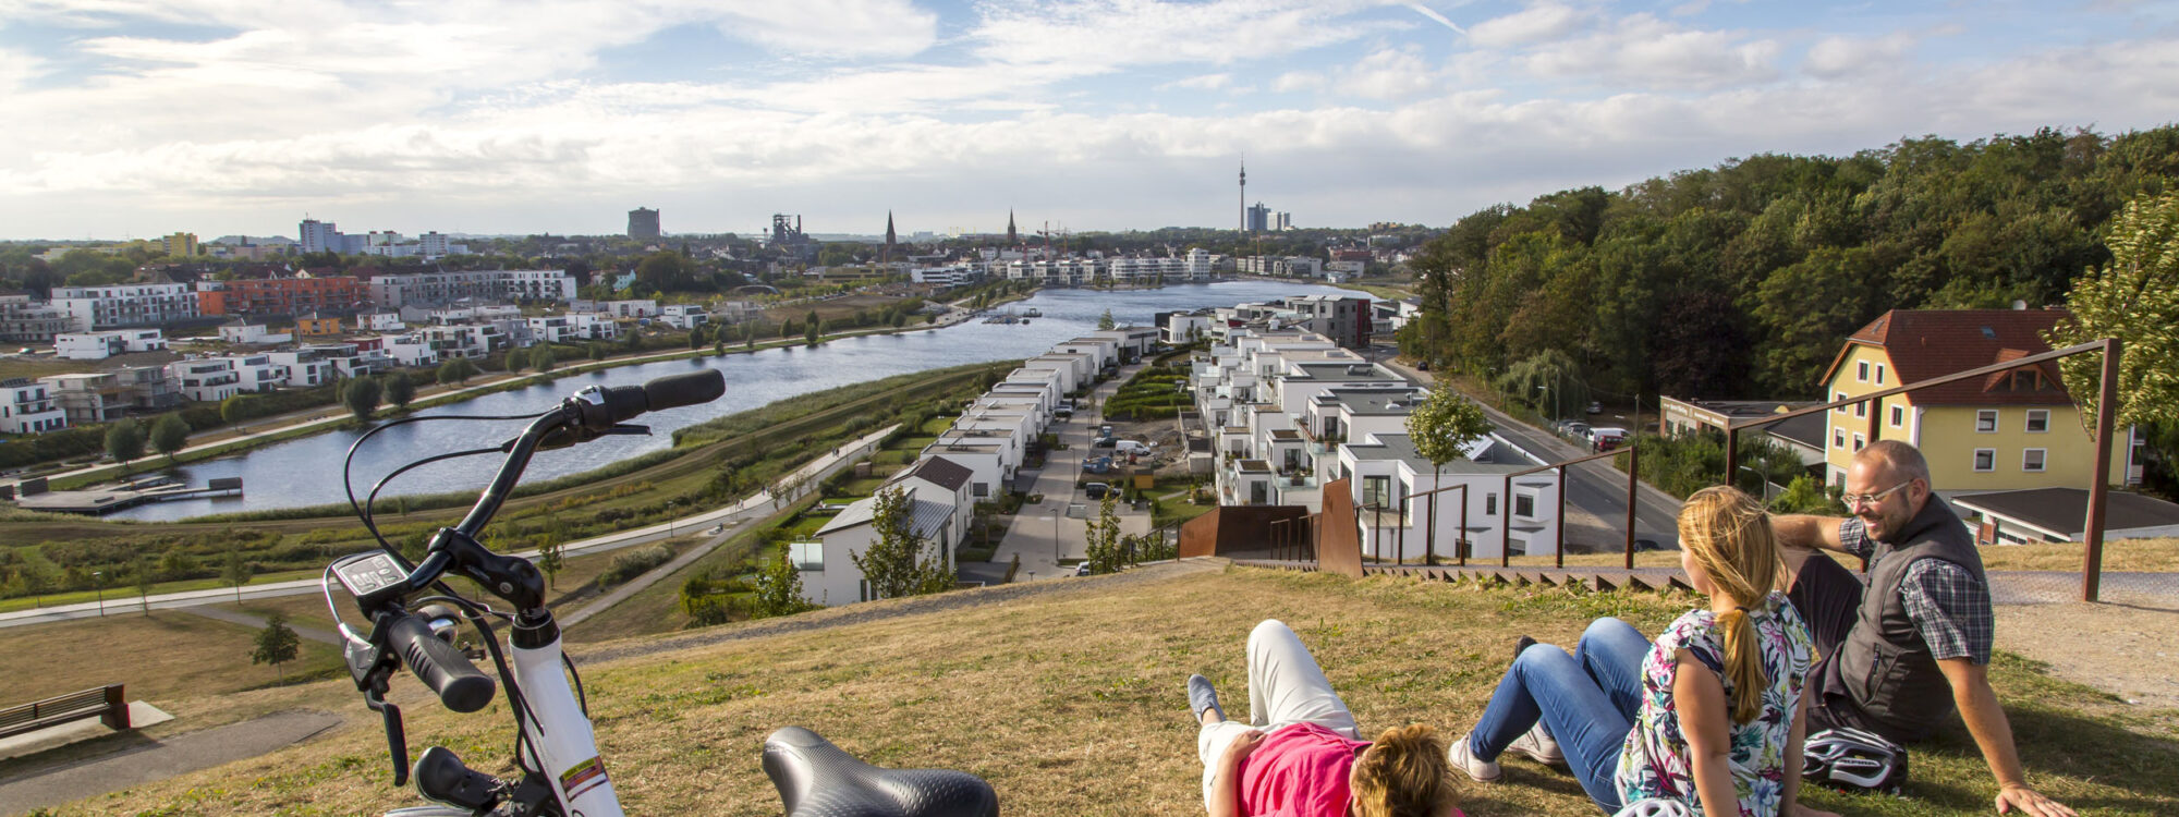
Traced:
<path id="1" fill-rule="evenodd" d="M 1460 218 L 1412 261 L 1401 351 L 1484 383 L 1813 399 L 1887 309 L 2064 305 L 2103 229 L 2179 179 L 2179 126 L 1754 155 Z"/>

